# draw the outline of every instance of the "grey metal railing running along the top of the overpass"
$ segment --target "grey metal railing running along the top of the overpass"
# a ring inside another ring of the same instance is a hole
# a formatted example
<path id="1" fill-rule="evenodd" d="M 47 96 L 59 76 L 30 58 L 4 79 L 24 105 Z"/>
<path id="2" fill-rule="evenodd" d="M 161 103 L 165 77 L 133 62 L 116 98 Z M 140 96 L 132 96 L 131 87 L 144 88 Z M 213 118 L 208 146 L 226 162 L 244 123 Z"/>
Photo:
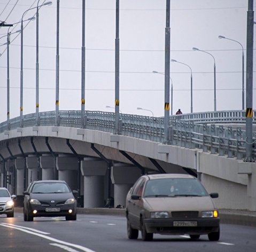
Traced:
<path id="1" fill-rule="evenodd" d="M 86 111 L 85 128 L 104 132 L 115 132 L 115 113 Z M 55 111 L 41 112 L 40 126 L 56 124 Z M 20 117 L 10 121 L 10 129 L 20 127 Z M 169 143 L 185 148 L 200 148 L 204 152 L 227 155 L 228 158 L 245 158 L 246 135 L 245 111 L 219 111 L 182 115 L 172 115 L 169 120 Z M 59 111 L 61 127 L 81 127 L 81 111 Z M 253 112 L 256 123 L 256 112 Z M 36 125 L 36 114 L 23 116 L 24 127 Z M 224 127 L 224 125 L 227 125 Z M 232 124 L 232 126 L 231 126 Z M 120 132 L 122 135 L 164 142 L 164 117 L 150 117 L 120 114 Z M 8 129 L 7 121 L 0 124 L 0 133 Z M 255 141 L 255 138 L 253 138 Z M 256 149 L 253 144 L 253 158 Z"/>

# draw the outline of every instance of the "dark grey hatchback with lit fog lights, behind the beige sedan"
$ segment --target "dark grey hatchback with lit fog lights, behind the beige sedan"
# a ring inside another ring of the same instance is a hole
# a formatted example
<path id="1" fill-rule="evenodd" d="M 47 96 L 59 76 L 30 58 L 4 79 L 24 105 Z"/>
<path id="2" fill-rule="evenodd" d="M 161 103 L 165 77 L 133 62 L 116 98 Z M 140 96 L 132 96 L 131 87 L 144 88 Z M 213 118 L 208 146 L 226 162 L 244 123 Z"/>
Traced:
<path id="1" fill-rule="evenodd" d="M 24 194 L 24 221 L 34 217 L 65 216 L 67 221 L 76 220 L 76 200 L 65 181 L 38 180 L 29 185 Z"/>

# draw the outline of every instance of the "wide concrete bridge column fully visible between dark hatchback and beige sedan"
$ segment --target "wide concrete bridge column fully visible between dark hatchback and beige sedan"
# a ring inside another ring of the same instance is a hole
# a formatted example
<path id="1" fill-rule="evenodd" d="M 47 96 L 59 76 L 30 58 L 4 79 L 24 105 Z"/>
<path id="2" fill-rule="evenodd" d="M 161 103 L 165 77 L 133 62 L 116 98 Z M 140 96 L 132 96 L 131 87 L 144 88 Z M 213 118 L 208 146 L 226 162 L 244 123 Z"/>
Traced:
<path id="1" fill-rule="evenodd" d="M 84 176 L 84 208 L 104 207 L 104 176 L 107 163 L 97 158 L 84 158 L 81 162 L 81 172 Z"/>

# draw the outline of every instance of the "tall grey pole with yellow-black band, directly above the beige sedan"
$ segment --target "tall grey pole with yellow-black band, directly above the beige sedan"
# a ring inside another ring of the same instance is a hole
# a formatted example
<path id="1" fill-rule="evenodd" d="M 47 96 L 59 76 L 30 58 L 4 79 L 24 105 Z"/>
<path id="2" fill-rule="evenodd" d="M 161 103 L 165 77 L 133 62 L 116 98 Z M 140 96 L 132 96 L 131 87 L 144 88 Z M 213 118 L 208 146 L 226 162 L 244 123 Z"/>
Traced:
<path id="1" fill-rule="evenodd" d="M 170 118 L 170 0 L 166 0 L 165 28 L 165 137 L 164 143 L 169 143 Z"/>

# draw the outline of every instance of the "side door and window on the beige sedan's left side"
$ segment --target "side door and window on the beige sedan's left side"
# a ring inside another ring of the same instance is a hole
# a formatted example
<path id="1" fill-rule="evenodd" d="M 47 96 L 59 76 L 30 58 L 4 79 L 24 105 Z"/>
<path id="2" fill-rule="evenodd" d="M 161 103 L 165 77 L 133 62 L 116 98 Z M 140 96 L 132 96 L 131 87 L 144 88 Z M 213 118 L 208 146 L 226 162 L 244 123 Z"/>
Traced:
<path id="1" fill-rule="evenodd" d="M 139 196 L 138 200 L 133 200 L 130 199 L 130 205 L 131 205 L 131 216 L 132 216 L 132 222 L 136 227 L 140 226 L 140 214 L 141 214 L 141 209 L 143 208 L 142 206 L 142 193 L 144 190 L 144 185 L 145 185 L 145 178 L 141 178 L 136 186 L 134 187 L 134 190 L 131 192 L 131 195 L 137 195 Z"/>

